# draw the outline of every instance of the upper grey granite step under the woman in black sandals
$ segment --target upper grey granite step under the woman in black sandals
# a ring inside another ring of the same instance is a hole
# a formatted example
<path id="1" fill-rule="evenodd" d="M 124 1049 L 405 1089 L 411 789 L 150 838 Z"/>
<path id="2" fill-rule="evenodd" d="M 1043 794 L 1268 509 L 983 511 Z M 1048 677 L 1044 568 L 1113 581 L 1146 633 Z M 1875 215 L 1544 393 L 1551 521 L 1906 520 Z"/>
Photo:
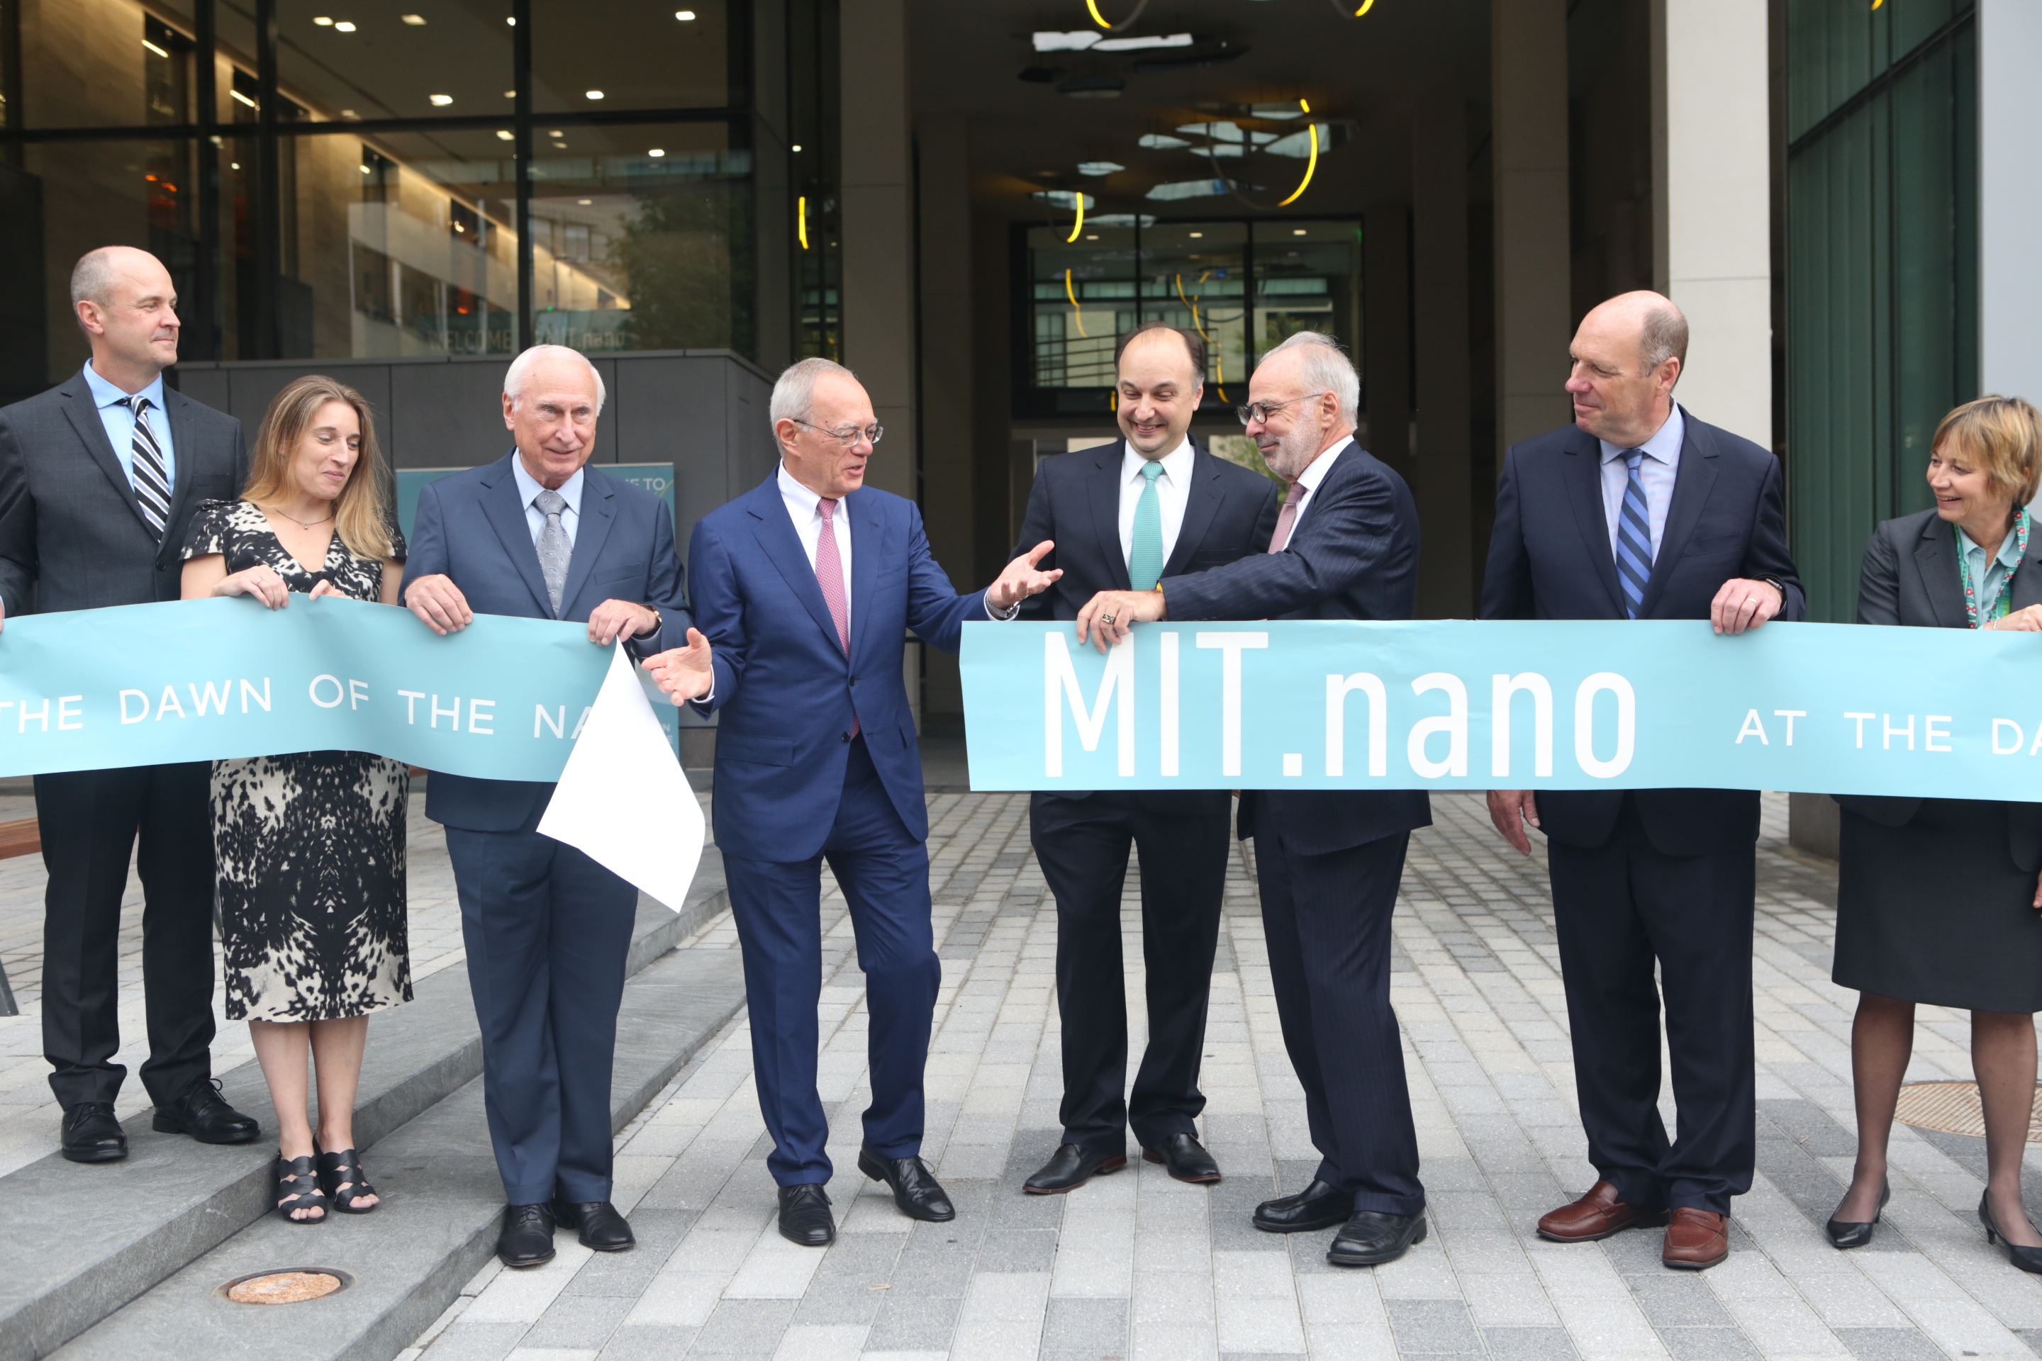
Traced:
<path id="1" fill-rule="evenodd" d="M 723 861 L 709 847 L 680 912 L 639 898 L 629 973 L 643 973 L 727 906 Z M 421 979 L 412 998 L 370 1020 L 355 1104 L 363 1151 L 482 1075 L 466 965 Z M 268 1214 L 276 1114 L 261 1069 L 249 1061 L 221 1079 L 227 1100 L 261 1120 L 263 1139 L 200 1145 L 151 1132 L 143 1112 L 125 1124 L 129 1157 L 120 1163 L 80 1165 L 51 1153 L 0 1177 L 0 1361 L 57 1351 Z M 619 1090 L 627 1090 L 623 1077 Z"/>

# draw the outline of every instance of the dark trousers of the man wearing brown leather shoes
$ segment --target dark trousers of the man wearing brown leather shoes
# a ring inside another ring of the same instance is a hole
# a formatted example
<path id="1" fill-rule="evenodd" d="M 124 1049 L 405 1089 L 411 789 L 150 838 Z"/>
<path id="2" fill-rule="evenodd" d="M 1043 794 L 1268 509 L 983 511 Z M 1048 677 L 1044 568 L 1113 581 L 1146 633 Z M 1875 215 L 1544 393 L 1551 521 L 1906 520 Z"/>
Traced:
<path id="1" fill-rule="evenodd" d="M 1625 798 L 1609 841 L 1550 841 L 1548 857 L 1589 1161 L 1625 1204 L 1730 1214 L 1756 1159 L 1754 849 L 1664 855 Z M 1658 1112 L 1662 992 L 1670 1143 Z"/>

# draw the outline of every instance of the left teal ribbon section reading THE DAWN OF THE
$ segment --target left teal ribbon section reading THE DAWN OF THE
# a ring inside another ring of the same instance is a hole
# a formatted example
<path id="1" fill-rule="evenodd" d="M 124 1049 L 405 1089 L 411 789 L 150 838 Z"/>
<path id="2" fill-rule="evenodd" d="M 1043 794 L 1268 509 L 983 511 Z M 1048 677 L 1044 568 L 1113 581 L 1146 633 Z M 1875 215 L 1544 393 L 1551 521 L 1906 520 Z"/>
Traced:
<path id="1" fill-rule="evenodd" d="M 609 665 L 586 624 L 478 614 L 439 637 L 331 596 L 31 614 L 0 628 L 0 775 L 372 751 L 560 779 Z"/>

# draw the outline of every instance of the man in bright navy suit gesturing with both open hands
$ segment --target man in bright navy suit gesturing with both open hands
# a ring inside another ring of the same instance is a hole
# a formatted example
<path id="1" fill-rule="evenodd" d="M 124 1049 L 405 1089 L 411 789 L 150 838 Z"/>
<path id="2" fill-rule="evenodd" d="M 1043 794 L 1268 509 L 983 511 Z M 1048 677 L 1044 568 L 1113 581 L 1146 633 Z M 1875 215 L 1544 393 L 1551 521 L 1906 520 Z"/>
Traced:
<path id="1" fill-rule="evenodd" d="M 1058 573 L 1041 543 L 960 596 L 929 555 L 915 502 L 864 486 L 880 441 L 843 365 L 803 359 L 772 390 L 780 467 L 702 516 L 688 545 L 694 641 L 647 661 L 676 698 L 721 712 L 717 847 L 745 955 L 751 1067 L 780 1183 L 780 1232 L 835 1239 L 829 1118 L 815 1090 L 821 871 L 852 910 L 870 1008 L 872 1106 L 858 1169 L 903 1214 L 956 1210 L 921 1161 L 921 1073 L 941 965 L 929 926 L 929 810 L 901 679 L 913 628 L 958 651 L 968 618 L 1011 616 Z"/>

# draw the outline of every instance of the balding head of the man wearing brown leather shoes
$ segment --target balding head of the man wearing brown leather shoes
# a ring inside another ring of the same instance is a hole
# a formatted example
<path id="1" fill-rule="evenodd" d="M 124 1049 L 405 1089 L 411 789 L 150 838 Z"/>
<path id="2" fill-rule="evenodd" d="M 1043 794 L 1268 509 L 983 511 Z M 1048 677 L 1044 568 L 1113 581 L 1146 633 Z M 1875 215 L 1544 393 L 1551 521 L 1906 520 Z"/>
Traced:
<path id="1" fill-rule="evenodd" d="M 1672 414 L 1672 386 L 1687 367 L 1687 318 L 1660 294 L 1617 294 L 1581 318 L 1568 359 L 1574 424 L 1636 449 Z"/>

